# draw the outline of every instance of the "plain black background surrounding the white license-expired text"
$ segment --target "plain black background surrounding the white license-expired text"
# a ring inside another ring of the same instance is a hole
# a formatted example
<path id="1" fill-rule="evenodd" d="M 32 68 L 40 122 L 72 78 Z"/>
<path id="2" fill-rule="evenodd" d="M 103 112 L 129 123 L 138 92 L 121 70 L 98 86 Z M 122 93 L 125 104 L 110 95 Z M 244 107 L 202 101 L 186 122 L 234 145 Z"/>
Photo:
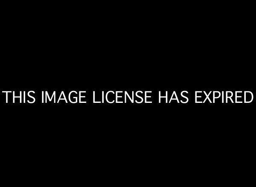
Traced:
<path id="1" fill-rule="evenodd" d="M 2 102 L 5 176 L 131 184 L 250 178 L 255 101 L 196 105 L 193 96 L 255 94 L 247 7 L 42 7 L 3 13 L 1 91 L 152 90 L 154 104 Z M 183 90 L 187 105 L 157 104 L 157 91 Z"/>

